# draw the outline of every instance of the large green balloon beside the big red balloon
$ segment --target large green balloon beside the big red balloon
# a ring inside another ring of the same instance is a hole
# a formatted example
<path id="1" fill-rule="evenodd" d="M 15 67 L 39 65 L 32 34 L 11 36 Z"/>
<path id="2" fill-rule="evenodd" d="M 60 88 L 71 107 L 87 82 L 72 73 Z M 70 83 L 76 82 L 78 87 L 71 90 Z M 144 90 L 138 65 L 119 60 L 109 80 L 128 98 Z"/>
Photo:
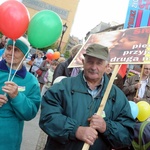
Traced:
<path id="1" fill-rule="evenodd" d="M 62 34 L 62 20 L 53 11 L 36 13 L 28 26 L 28 40 L 33 47 L 44 48 L 55 43 Z"/>

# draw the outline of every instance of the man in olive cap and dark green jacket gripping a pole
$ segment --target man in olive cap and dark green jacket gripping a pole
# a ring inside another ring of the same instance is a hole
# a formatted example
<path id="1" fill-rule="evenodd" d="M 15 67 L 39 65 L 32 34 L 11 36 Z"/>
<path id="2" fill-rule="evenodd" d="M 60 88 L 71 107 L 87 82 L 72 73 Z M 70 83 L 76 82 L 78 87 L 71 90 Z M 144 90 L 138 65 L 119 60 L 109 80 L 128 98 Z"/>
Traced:
<path id="1" fill-rule="evenodd" d="M 87 47 L 84 70 L 62 79 L 42 97 L 39 126 L 48 135 L 45 150 L 111 150 L 131 145 L 135 120 L 124 93 L 115 85 L 103 114 L 96 114 L 109 82 L 108 48 Z"/>

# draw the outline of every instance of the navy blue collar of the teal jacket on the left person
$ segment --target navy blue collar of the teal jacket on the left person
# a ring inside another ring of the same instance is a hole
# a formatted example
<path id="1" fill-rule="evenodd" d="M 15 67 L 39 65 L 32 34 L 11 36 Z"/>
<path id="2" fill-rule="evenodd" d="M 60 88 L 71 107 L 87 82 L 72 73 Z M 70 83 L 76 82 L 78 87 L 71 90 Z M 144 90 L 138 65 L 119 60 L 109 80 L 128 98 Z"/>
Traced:
<path id="1" fill-rule="evenodd" d="M 6 61 L 5 60 L 1 60 L 0 61 L 0 70 L 5 71 L 5 72 L 9 72 L 9 68 L 6 65 Z M 16 72 L 16 75 L 21 77 L 21 78 L 25 78 L 26 73 L 27 73 L 27 70 L 26 70 L 25 66 L 23 66 L 20 70 L 18 70 Z"/>

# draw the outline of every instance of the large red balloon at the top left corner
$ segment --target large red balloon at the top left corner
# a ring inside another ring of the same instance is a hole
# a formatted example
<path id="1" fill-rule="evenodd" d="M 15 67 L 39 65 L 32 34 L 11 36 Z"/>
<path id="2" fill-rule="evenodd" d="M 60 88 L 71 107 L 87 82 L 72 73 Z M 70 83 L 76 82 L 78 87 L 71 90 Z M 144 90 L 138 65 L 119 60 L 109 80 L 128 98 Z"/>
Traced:
<path id="1" fill-rule="evenodd" d="M 0 30 L 7 37 L 16 40 L 25 34 L 29 20 L 29 12 L 24 4 L 6 1 L 0 5 Z"/>

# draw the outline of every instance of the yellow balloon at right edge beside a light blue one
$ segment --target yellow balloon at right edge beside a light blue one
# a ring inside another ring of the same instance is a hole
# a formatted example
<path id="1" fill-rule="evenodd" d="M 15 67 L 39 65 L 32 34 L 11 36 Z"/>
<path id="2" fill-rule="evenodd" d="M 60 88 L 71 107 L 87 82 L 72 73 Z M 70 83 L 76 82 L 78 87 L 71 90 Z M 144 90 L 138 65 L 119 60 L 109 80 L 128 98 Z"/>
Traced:
<path id="1" fill-rule="evenodd" d="M 150 117 L 150 105 L 146 101 L 140 101 L 137 103 L 137 106 L 139 108 L 137 119 L 143 122 Z"/>

